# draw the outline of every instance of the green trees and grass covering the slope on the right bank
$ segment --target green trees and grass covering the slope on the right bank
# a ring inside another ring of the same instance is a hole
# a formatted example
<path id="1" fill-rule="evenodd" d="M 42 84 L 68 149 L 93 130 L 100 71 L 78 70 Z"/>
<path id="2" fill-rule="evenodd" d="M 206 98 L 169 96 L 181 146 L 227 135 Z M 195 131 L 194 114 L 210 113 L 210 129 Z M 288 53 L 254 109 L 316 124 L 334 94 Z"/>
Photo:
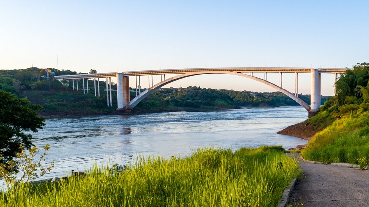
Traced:
<path id="1" fill-rule="evenodd" d="M 309 119 L 323 130 L 301 152 L 305 159 L 353 164 L 369 160 L 368 72 L 366 62 L 347 70 L 336 83 L 335 98 Z"/>

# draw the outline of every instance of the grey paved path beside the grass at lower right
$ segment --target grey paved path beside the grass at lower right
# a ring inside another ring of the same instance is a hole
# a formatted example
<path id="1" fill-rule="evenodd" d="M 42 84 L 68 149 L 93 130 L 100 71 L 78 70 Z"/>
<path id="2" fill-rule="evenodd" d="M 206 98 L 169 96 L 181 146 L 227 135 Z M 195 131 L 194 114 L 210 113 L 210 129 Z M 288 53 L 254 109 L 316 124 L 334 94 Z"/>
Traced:
<path id="1" fill-rule="evenodd" d="M 369 171 L 302 162 L 304 176 L 292 189 L 288 205 L 369 207 Z"/>

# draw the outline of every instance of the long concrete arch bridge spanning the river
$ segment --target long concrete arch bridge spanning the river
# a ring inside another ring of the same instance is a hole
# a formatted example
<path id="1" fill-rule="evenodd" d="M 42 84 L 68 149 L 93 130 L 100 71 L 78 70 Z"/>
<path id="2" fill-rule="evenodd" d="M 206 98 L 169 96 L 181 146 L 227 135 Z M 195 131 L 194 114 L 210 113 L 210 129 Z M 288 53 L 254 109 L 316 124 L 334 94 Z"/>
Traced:
<path id="1" fill-rule="evenodd" d="M 321 75 L 322 73 L 332 73 L 335 74 L 335 83 L 337 81 L 337 74 L 346 73 L 348 68 L 281 68 L 281 67 L 235 67 L 235 68 L 194 68 L 194 69 L 167 69 L 167 70 L 145 70 L 145 71 L 130 71 L 130 72 L 114 72 L 114 73 L 96 73 L 96 74 L 78 74 L 78 75 L 62 75 L 55 76 L 54 78 L 57 80 L 72 80 L 73 89 L 74 80 L 83 81 L 83 91 L 85 93 L 85 81 L 84 79 L 93 79 L 94 80 L 94 88 L 95 88 L 95 96 L 97 96 L 96 92 L 96 79 L 98 80 L 98 96 L 100 96 L 100 87 L 99 87 L 99 78 L 106 78 L 106 94 L 107 94 L 107 103 L 109 106 L 109 91 L 110 91 L 110 106 L 112 106 L 112 95 L 111 95 L 111 78 L 117 78 L 117 110 L 130 112 L 140 101 L 142 101 L 145 97 L 153 93 L 154 91 L 160 89 L 162 86 L 172 83 L 174 81 L 195 76 L 195 75 L 203 75 L 203 74 L 229 74 L 229 75 L 237 75 L 245 78 L 249 78 L 263 84 L 266 84 L 278 91 L 284 93 L 297 103 L 299 103 L 302 107 L 304 107 L 309 112 L 309 117 L 313 116 L 320 108 L 321 102 Z M 253 75 L 253 73 L 264 73 L 264 78 L 258 78 Z M 279 85 L 271 83 L 268 81 L 268 73 L 279 73 Z M 295 91 L 292 93 L 283 89 L 282 80 L 283 73 L 295 73 Z M 311 74 L 311 105 L 309 106 L 303 100 L 298 97 L 298 74 L 299 73 L 310 73 Z M 135 76 L 136 80 L 136 97 L 133 100 L 130 100 L 130 91 L 129 91 L 129 77 Z M 141 92 L 141 76 L 148 77 L 148 89 Z M 160 82 L 153 84 L 153 76 L 160 76 Z M 151 78 L 151 81 L 150 81 Z M 108 79 L 110 89 L 108 89 Z M 151 82 L 151 86 L 150 86 Z M 78 82 L 77 89 L 78 89 Z M 88 88 L 88 81 L 87 81 Z M 87 90 L 87 93 L 89 91 Z"/>

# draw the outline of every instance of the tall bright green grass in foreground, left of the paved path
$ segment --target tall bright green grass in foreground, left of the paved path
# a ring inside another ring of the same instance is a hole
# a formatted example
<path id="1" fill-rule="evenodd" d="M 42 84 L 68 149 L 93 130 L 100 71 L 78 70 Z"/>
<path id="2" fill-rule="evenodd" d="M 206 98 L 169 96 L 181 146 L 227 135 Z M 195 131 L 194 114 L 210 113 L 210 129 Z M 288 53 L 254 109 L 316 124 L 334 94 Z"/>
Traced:
<path id="1" fill-rule="evenodd" d="M 277 206 L 300 174 L 283 148 L 199 148 L 192 156 L 138 157 L 122 172 L 94 168 L 86 177 L 43 187 L 22 185 L 0 195 L 0 206 Z"/>

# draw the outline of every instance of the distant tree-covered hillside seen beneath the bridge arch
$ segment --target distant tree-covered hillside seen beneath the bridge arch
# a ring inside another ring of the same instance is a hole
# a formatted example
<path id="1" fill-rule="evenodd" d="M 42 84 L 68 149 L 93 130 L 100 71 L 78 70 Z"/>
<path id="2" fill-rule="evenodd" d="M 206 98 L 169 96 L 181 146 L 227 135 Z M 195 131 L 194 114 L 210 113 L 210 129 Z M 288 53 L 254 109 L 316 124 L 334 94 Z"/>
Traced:
<path id="1" fill-rule="evenodd" d="M 135 93 L 131 94 L 131 99 Z M 253 93 L 250 91 L 215 90 L 200 87 L 162 88 L 154 92 L 149 99 L 144 99 L 133 110 L 145 111 L 149 108 L 181 109 L 181 108 L 236 108 L 236 107 L 275 107 L 298 105 L 294 100 L 280 92 Z M 155 97 L 155 98 L 154 98 Z M 306 103 L 310 103 L 309 95 L 299 95 Z M 327 100 L 322 97 L 322 102 Z"/>

